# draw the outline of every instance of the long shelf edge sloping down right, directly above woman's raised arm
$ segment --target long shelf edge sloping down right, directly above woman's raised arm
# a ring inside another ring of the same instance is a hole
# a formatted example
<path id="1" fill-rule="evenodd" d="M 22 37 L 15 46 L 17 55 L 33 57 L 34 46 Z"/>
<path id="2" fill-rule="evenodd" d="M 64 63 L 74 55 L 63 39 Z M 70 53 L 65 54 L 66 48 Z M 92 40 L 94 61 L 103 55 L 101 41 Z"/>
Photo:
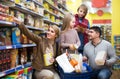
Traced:
<path id="1" fill-rule="evenodd" d="M 32 10 L 29 10 L 29 9 L 19 5 L 19 4 L 15 4 L 15 6 L 12 6 L 11 8 L 19 10 L 19 11 L 21 11 L 23 13 L 26 13 L 26 14 L 31 14 L 33 16 L 39 16 L 39 17 L 42 17 L 42 18 L 44 17 L 43 15 L 38 14 L 38 13 L 32 11 Z"/>

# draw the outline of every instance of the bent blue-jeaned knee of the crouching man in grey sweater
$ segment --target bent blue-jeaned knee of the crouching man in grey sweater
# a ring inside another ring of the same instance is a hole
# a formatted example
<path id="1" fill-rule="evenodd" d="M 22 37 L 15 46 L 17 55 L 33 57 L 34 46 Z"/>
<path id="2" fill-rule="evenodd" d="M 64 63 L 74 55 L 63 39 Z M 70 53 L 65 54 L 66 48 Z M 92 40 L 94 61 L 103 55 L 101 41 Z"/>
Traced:
<path id="1" fill-rule="evenodd" d="M 97 73 L 94 79 L 110 79 L 111 75 L 112 75 L 111 70 L 108 68 L 104 68 L 101 70 L 97 70 Z"/>

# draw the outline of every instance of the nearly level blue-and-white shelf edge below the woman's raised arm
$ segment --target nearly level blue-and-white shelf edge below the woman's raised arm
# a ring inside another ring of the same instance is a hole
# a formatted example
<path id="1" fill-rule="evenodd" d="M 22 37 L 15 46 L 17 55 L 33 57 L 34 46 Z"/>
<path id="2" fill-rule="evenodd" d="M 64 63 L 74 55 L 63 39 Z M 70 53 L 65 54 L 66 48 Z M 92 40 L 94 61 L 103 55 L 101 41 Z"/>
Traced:
<path id="1" fill-rule="evenodd" d="M 11 46 L 0 46 L 0 50 L 24 48 L 24 47 L 34 47 L 34 46 L 36 46 L 36 44 L 18 44 L 18 45 L 11 45 Z"/>

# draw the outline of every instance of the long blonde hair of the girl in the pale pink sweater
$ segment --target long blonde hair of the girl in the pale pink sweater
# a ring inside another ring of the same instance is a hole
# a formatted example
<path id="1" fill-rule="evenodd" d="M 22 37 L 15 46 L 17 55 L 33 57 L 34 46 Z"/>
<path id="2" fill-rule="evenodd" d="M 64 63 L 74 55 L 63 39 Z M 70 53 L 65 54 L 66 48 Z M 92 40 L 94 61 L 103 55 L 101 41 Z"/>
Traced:
<path id="1" fill-rule="evenodd" d="M 74 18 L 74 16 L 71 13 L 66 13 L 63 18 L 63 26 L 61 28 L 62 31 L 66 31 L 70 27 L 70 21 Z"/>

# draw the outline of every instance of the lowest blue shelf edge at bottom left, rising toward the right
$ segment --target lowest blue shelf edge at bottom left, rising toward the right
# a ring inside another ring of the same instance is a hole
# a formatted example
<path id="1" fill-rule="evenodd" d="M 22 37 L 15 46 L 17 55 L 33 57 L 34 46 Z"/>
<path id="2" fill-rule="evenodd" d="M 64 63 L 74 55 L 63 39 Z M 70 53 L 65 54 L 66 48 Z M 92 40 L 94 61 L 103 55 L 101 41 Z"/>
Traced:
<path id="1" fill-rule="evenodd" d="M 20 65 L 20 66 L 17 66 L 15 68 L 12 68 L 12 69 L 8 69 L 6 71 L 0 72 L 0 77 L 3 77 L 5 75 L 11 74 L 15 71 L 18 71 L 18 70 L 21 70 L 23 68 L 27 68 L 27 67 L 30 67 L 30 66 L 31 66 L 31 62 L 28 62 L 27 64 Z"/>

